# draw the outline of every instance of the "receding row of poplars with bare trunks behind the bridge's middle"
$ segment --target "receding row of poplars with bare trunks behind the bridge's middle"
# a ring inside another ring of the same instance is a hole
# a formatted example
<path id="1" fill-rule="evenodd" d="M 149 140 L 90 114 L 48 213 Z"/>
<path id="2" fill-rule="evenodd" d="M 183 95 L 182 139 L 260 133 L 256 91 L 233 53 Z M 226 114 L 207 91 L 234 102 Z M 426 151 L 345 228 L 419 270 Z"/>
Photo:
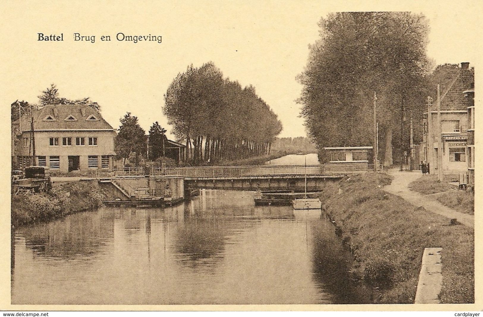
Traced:
<path id="1" fill-rule="evenodd" d="M 282 131 L 255 88 L 225 79 L 213 62 L 178 74 L 164 98 L 163 113 L 195 165 L 268 154 Z"/>

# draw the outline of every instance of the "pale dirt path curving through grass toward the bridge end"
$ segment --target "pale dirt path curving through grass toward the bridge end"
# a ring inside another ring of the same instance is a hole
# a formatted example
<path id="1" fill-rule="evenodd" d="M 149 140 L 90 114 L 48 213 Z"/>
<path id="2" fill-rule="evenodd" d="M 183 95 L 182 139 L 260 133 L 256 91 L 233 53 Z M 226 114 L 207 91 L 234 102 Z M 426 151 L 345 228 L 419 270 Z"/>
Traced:
<path id="1" fill-rule="evenodd" d="M 394 179 L 391 185 L 384 187 L 384 191 L 398 195 L 416 207 L 424 207 L 426 210 L 447 217 L 448 219 L 456 218 L 462 224 L 474 228 L 475 220 L 473 215 L 455 211 L 442 205 L 438 201 L 426 197 L 423 194 L 412 192 L 409 189 L 409 183 L 421 177 L 420 172 L 399 172 L 398 169 L 391 169 L 387 171 L 387 174 L 392 175 Z"/>

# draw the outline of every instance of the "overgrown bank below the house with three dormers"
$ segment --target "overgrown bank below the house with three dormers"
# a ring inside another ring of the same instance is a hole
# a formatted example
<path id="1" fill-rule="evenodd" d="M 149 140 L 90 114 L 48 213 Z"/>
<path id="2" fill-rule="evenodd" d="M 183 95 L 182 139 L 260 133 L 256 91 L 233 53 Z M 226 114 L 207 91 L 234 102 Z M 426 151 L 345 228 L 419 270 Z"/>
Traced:
<path id="1" fill-rule="evenodd" d="M 12 196 L 12 224 L 19 226 L 48 221 L 74 212 L 97 208 L 114 192 L 101 189 L 97 181 L 59 183 L 49 193 L 26 193 Z"/>

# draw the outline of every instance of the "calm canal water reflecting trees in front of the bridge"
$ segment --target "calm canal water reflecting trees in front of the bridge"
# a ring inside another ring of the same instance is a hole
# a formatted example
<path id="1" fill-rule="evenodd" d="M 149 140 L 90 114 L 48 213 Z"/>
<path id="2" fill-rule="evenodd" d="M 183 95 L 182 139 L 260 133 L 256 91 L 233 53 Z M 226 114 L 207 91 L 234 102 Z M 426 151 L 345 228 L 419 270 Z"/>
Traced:
<path id="1" fill-rule="evenodd" d="M 323 214 L 258 207 L 253 192 L 101 207 L 21 227 L 13 246 L 13 304 L 370 302 Z"/>

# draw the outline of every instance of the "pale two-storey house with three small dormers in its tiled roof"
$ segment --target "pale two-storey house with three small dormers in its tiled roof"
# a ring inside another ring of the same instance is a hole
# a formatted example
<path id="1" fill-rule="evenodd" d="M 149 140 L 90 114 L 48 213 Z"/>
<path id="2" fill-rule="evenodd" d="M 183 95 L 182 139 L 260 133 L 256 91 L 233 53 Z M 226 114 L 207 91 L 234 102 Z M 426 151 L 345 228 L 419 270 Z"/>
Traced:
<path id="1" fill-rule="evenodd" d="M 20 168 L 40 165 L 62 172 L 112 168 L 116 132 L 88 105 L 46 105 L 14 122 L 13 131 Z"/>

